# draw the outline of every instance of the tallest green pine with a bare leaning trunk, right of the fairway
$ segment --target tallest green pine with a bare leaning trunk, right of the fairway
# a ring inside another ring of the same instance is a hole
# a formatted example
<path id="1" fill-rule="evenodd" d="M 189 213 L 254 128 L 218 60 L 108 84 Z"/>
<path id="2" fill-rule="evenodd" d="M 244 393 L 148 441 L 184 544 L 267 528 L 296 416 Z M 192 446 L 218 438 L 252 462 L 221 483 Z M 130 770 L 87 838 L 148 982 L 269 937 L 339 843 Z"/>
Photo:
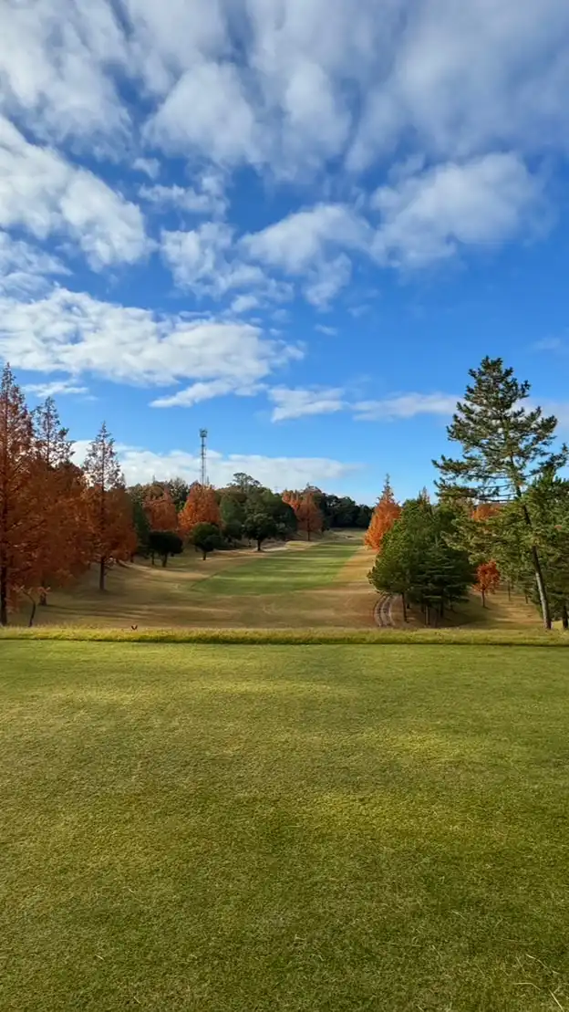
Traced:
<path id="1" fill-rule="evenodd" d="M 463 402 L 457 404 L 449 439 L 461 443 L 460 459 L 442 456 L 435 460 L 441 473 L 442 493 L 476 499 L 479 502 L 519 504 L 530 534 L 530 556 L 543 620 L 551 628 L 551 608 L 542 561 L 524 494 L 532 482 L 555 475 L 567 461 L 567 447 L 552 447 L 557 419 L 545 417 L 541 408 L 528 410 L 530 384 L 519 383 L 501 358 L 486 357 L 478 369 L 471 369 L 473 383 Z"/>

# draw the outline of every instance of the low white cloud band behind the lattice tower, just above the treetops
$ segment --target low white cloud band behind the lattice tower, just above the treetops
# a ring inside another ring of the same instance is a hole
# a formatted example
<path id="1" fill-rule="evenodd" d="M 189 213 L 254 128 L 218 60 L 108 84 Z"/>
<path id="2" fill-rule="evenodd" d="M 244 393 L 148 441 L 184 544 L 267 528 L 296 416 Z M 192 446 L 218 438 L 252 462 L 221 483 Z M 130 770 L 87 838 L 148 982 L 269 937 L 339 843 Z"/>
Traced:
<path id="1" fill-rule="evenodd" d="M 76 455 L 81 459 L 87 449 L 86 441 L 78 441 Z M 128 484 L 184 478 L 188 482 L 199 478 L 199 452 L 188 453 L 174 449 L 168 453 L 155 453 L 136 446 L 117 444 L 118 457 Z M 252 475 L 268 488 L 283 490 L 301 489 L 309 484 L 325 484 L 342 480 L 360 466 L 345 463 L 328 457 L 271 457 L 256 454 L 222 454 L 213 449 L 207 453 L 209 480 L 218 487 L 226 485 L 238 472 Z"/>

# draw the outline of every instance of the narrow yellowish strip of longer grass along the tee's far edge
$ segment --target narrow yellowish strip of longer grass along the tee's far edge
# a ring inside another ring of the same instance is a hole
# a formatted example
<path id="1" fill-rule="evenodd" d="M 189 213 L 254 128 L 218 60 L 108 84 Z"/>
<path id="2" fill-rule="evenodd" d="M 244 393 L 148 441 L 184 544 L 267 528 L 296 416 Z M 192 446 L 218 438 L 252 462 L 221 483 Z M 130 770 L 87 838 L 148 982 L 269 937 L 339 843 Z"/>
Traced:
<path id="1" fill-rule="evenodd" d="M 57 640 L 74 643 L 187 643 L 187 644 L 251 644 L 297 645 L 310 644 L 410 644 L 414 646 L 448 645 L 456 647 L 569 647 L 569 634 L 513 629 L 244 629 L 244 628 L 155 628 L 140 631 L 105 629 L 90 626 L 45 626 L 23 628 L 8 626 L 0 629 L 2 641 Z"/>

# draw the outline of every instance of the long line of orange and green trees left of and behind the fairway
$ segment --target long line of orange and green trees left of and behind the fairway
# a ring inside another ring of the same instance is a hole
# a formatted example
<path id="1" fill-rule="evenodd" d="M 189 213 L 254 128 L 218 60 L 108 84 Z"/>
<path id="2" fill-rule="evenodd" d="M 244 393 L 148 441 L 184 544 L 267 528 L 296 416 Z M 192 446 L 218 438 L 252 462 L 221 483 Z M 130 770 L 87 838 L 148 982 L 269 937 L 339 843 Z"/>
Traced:
<path id="1" fill-rule="evenodd" d="M 180 478 L 126 487 L 103 424 L 81 466 L 53 398 L 30 410 L 7 365 L 0 380 L 0 624 L 97 568 L 148 556 L 163 566 L 188 545 L 203 559 L 244 540 L 308 539 L 327 528 L 366 527 L 372 510 L 307 486 L 279 495 L 246 474 L 214 489 Z"/>

